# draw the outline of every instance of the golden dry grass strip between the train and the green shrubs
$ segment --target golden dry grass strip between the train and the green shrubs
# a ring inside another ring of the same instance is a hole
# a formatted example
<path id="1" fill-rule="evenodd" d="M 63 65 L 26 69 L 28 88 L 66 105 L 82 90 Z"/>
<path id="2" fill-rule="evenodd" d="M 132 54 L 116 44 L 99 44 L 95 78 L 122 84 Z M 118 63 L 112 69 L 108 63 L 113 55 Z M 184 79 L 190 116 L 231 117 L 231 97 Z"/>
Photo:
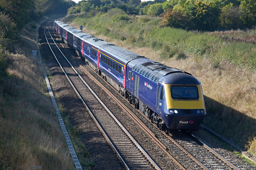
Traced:
<path id="1" fill-rule="evenodd" d="M 74 22 L 67 23 L 79 28 Z M 256 73 L 238 68 L 228 62 L 217 64 L 210 57 L 185 54 L 185 59 L 159 58 L 160 50 L 139 48 L 129 41 L 120 41 L 101 35 L 95 30 L 83 29 L 97 38 L 104 39 L 142 56 L 191 73 L 201 81 L 206 103 L 207 117 L 204 124 L 229 140 L 245 147 L 254 154 L 256 139 Z"/>

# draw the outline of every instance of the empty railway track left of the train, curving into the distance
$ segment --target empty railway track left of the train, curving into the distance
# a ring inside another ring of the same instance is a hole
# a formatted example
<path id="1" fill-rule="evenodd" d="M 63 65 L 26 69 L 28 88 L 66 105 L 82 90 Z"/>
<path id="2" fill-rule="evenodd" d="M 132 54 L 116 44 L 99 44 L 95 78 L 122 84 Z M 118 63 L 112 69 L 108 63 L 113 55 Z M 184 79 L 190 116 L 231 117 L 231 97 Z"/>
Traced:
<path id="1" fill-rule="evenodd" d="M 126 169 L 160 169 L 82 79 L 71 63 L 62 59 L 63 53 L 60 54 L 60 51 L 54 47 L 55 42 L 50 35 L 49 24 L 50 21 L 48 26 L 45 26 L 48 27 L 45 37 L 55 59 Z"/>

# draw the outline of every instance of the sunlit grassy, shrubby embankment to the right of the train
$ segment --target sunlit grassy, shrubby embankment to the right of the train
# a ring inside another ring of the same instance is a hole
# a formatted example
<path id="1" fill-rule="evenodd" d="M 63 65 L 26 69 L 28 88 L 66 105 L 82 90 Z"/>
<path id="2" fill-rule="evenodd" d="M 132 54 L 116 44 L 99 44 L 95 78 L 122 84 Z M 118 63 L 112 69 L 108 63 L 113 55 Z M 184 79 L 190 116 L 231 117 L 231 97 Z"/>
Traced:
<path id="1" fill-rule="evenodd" d="M 256 155 L 256 46 L 162 28 L 161 20 L 111 9 L 67 16 L 64 22 L 77 29 L 83 25 L 84 32 L 97 38 L 191 73 L 205 95 L 203 124 Z M 251 32 L 255 39 L 255 30 Z"/>

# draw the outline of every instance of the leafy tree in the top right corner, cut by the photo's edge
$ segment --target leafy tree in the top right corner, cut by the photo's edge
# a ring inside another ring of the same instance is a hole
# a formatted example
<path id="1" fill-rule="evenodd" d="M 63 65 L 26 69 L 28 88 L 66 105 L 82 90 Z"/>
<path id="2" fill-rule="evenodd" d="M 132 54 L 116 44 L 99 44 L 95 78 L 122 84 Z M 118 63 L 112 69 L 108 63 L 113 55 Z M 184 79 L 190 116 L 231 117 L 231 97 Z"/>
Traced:
<path id="1" fill-rule="evenodd" d="M 255 0 L 242 0 L 240 5 L 241 20 L 246 27 L 256 25 L 256 2 Z"/>

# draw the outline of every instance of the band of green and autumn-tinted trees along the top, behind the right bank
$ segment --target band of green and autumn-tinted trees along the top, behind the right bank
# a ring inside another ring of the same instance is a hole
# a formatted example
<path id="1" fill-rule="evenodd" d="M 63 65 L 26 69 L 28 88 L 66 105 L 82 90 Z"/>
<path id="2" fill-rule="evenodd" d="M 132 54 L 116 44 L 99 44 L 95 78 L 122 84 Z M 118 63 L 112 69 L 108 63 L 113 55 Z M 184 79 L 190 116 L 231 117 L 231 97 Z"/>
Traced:
<path id="1" fill-rule="evenodd" d="M 256 25 L 255 0 L 83 0 L 68 14 L 107 12 L 116 7 L 128 15 L 164 15 L 162 25 L 190 30 L 245 29 Z"/>

